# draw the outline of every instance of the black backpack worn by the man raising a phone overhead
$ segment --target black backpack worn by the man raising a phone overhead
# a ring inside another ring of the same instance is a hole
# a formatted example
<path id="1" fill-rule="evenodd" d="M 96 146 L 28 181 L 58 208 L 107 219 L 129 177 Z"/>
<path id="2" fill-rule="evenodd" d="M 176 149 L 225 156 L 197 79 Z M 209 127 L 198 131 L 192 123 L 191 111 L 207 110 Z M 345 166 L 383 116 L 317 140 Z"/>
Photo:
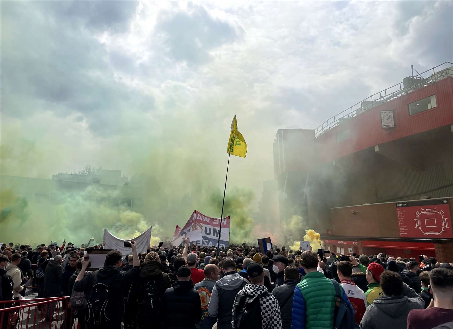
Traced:
<path id="1" fill-rule="evenodd" d="M 87 324 L 92 328 L 101 328 L 110 321 L 108 313 L 109 287 L 98 282 L 97 271 L 94 276 L 94 285 L 87 299 Z"/>

